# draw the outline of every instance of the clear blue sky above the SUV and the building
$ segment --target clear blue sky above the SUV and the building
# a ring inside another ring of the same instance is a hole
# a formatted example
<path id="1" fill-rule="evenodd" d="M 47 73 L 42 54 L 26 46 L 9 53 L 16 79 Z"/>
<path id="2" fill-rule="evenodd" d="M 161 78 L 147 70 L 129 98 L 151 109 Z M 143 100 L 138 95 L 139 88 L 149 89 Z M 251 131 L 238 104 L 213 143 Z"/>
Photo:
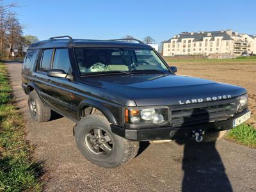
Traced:
<path id="1" fill-rule="evenodd" d="M 4 0 L 5 4 L 12 1 Z M 111 39 L 132 35 L 156 43 L 182 31 L 232 29 L 256 35 L 255 0 L 23 0 L 15 8 L 24 35 Z"/>

